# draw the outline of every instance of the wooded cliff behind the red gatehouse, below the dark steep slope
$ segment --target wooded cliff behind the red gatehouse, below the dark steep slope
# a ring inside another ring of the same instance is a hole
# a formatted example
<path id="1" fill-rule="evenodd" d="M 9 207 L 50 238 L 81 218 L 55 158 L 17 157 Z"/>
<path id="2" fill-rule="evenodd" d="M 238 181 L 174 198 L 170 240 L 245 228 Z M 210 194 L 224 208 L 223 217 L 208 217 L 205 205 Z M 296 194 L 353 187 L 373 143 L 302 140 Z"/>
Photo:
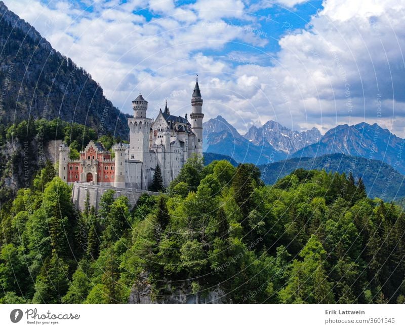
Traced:
<path id="1" fill-rule="evenodd" d="M 90 140 L 101 141 L 108 150 L 120 138 L 109 133 L 97 135 L 92 128 L 58 119 L 30 117 L 14 124 L 0 124 L 0 205 L 19 188 L 32 185 L 35 174 L 50 160 L 47 146 L 55 156 L 60 145 L 56 141 L 64 141 L 70 146 L 71 158 L 76 159 Z"/>

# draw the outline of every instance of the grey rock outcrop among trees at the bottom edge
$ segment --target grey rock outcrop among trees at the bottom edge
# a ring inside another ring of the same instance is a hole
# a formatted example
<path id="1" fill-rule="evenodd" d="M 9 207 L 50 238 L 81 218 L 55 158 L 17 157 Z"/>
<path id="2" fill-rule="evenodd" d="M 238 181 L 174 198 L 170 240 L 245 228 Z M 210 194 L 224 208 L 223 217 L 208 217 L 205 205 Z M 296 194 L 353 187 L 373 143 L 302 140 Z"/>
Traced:
<path id="1" fill-rule="evenodd" d="M 144 276 L 145 273 L 141 274 Z M 146 274 L 147 276 L 147 274 Z M 204 290 L 196 294 L 192 293 L 191 281 L 185 281 L 175 286 L 168 281 L 163 293 L 156 294 L 147 278 L 140 279 L 133 287 L 128 299 L 129 304 L 231 304 L 224 291 L 219 287 L 213 287 L 209 291 Z"/>

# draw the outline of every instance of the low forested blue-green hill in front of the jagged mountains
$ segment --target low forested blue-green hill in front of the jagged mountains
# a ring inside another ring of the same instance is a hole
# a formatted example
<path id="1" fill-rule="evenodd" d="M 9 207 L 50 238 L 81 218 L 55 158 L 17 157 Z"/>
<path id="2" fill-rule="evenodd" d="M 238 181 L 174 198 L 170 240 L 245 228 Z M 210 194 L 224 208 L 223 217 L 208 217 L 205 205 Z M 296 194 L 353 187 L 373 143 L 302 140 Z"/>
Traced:
<path id="1" fill-rule="evenodd" d="M 316 169 L 330 172 L 352 172 L 357 180 L 363 179 L 369 197 L 384 200 L 405 197 L 405 176 L 390 165 L 379 161 L 344 154 L 324 155 L 316 158 L 294 158 L 259 166 L 262 179 L 272 185 L 296 169 Z"/>

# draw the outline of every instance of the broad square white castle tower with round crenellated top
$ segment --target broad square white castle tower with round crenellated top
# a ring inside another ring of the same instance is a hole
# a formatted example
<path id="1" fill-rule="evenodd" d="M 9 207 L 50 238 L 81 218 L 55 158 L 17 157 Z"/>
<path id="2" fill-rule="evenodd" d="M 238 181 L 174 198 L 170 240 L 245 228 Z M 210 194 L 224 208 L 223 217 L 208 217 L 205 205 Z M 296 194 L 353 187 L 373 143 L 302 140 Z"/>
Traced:
<path id="1" fill-rule="evenodd" d="M 128 119 L 130 128 L 130 149 L 129 159 L 139 160 L 143 163 L 148 160 L 149 154 L 149 134 L 152 120 L 146 118 L 148 102 L 141 94 L 132 101 L 134 117 Z"/>

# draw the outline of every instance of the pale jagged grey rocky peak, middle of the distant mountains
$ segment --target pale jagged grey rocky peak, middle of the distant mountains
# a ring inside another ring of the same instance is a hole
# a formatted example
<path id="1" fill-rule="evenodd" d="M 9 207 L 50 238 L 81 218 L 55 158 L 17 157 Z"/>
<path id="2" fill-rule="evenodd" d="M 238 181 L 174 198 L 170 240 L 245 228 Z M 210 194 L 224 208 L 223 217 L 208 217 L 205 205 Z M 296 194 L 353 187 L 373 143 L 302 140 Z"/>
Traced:
<path id="1" fill-rule="evenodd" d="M 311 130 L 298 132 L 270 120 L 260 128 L 252 126 L 245 138 L 255 145 L 269 143 L 277 151 L 292 154 L 319 141 L 321 134 L 315 127 Z"/>

